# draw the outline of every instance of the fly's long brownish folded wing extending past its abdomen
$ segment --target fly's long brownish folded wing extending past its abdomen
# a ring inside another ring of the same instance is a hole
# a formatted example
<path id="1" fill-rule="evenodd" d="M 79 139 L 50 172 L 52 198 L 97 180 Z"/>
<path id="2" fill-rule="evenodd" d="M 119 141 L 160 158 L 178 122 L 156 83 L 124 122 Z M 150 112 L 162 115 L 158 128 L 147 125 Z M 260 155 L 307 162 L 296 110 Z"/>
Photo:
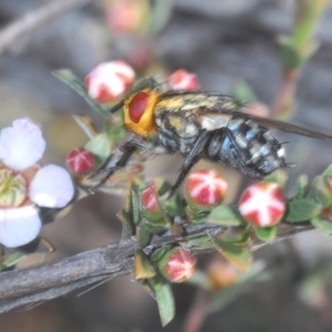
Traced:
<path id="1" fill-rule="evenodd" d="M 268 128 L 274 128 L 288 133 L 293 133 L 302 136 L 319 138 L 319 139 L 332 139 L 332 135 L 312 131 L 299 125 L 286 123 L 282 121 L 255 116 L 248 113 L 241 112 L 246 106 L 237 103 L 232 97 L 221 95 L 219 93 L 204 92 L 204 91 L 170 91 L 164 93 L 162 97 L 165 97 L 165 104 L 167 100 L 178 100 L 177 111 L 196 110 L 196 114 L 201 115 L 216 115 L 225 114 L 231 115 L 231 117 L 239 117 L 245 120 L 251 120 L 259 125 Z M 172 105 L 172 103 L 169 103 Z M 180 106 L 181 105 L 181 106 Z M 198 111 L 199 110 L 199 111 Z"/>

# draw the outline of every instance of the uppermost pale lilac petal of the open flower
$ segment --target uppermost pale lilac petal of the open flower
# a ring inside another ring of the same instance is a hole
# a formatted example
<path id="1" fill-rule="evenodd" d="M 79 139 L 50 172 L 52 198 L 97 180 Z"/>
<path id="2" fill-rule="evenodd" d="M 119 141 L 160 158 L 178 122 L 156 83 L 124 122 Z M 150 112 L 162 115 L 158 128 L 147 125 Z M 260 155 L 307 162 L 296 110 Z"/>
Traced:
<path id="1" fill-rule="evenodd" d="M 43 155 L 46 143 L 41 129 L 28 118 L 19 118 L 0 134 L 0 159 L 14 170 L 34 165 Z"/>

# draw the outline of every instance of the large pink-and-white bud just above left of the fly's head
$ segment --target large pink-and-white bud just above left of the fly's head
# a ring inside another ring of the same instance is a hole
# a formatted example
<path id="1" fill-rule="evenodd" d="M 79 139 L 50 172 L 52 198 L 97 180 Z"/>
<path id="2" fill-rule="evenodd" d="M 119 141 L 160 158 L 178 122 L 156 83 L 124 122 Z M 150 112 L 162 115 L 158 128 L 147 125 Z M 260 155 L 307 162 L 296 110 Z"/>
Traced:
<path id="1" fill-rule="evenodd" d="M 134 70 L 124 61 L 97 65 L 86 77 L 89 95 L 100 103 L 111 103 L 122 96 L 135 80 Z"/>

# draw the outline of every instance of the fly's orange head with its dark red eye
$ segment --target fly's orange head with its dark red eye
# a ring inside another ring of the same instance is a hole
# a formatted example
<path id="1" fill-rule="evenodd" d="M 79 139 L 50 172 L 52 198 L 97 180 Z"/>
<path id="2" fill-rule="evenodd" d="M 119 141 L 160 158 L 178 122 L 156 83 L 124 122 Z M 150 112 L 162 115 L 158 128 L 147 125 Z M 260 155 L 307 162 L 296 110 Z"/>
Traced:
<path id="1" fill-rule="evenodd" d="M 154 110 L 159 93 L 153 90 L 142 90 L 124 102 L 124 122 L 128 131 L 148 137 L 157 132 Z"/>

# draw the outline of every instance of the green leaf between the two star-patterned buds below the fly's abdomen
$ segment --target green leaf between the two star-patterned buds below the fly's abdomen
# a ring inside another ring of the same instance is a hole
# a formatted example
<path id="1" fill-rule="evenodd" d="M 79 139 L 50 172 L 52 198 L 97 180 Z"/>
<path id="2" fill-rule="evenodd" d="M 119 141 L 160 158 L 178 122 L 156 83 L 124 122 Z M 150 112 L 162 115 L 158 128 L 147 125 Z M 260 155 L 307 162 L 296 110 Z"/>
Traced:
<path id="1" fill-rule="evenodd" d="M 227 205 L 214 208 L 206 221 L 226 227 L 246 225 L 238 209 Z"/>

